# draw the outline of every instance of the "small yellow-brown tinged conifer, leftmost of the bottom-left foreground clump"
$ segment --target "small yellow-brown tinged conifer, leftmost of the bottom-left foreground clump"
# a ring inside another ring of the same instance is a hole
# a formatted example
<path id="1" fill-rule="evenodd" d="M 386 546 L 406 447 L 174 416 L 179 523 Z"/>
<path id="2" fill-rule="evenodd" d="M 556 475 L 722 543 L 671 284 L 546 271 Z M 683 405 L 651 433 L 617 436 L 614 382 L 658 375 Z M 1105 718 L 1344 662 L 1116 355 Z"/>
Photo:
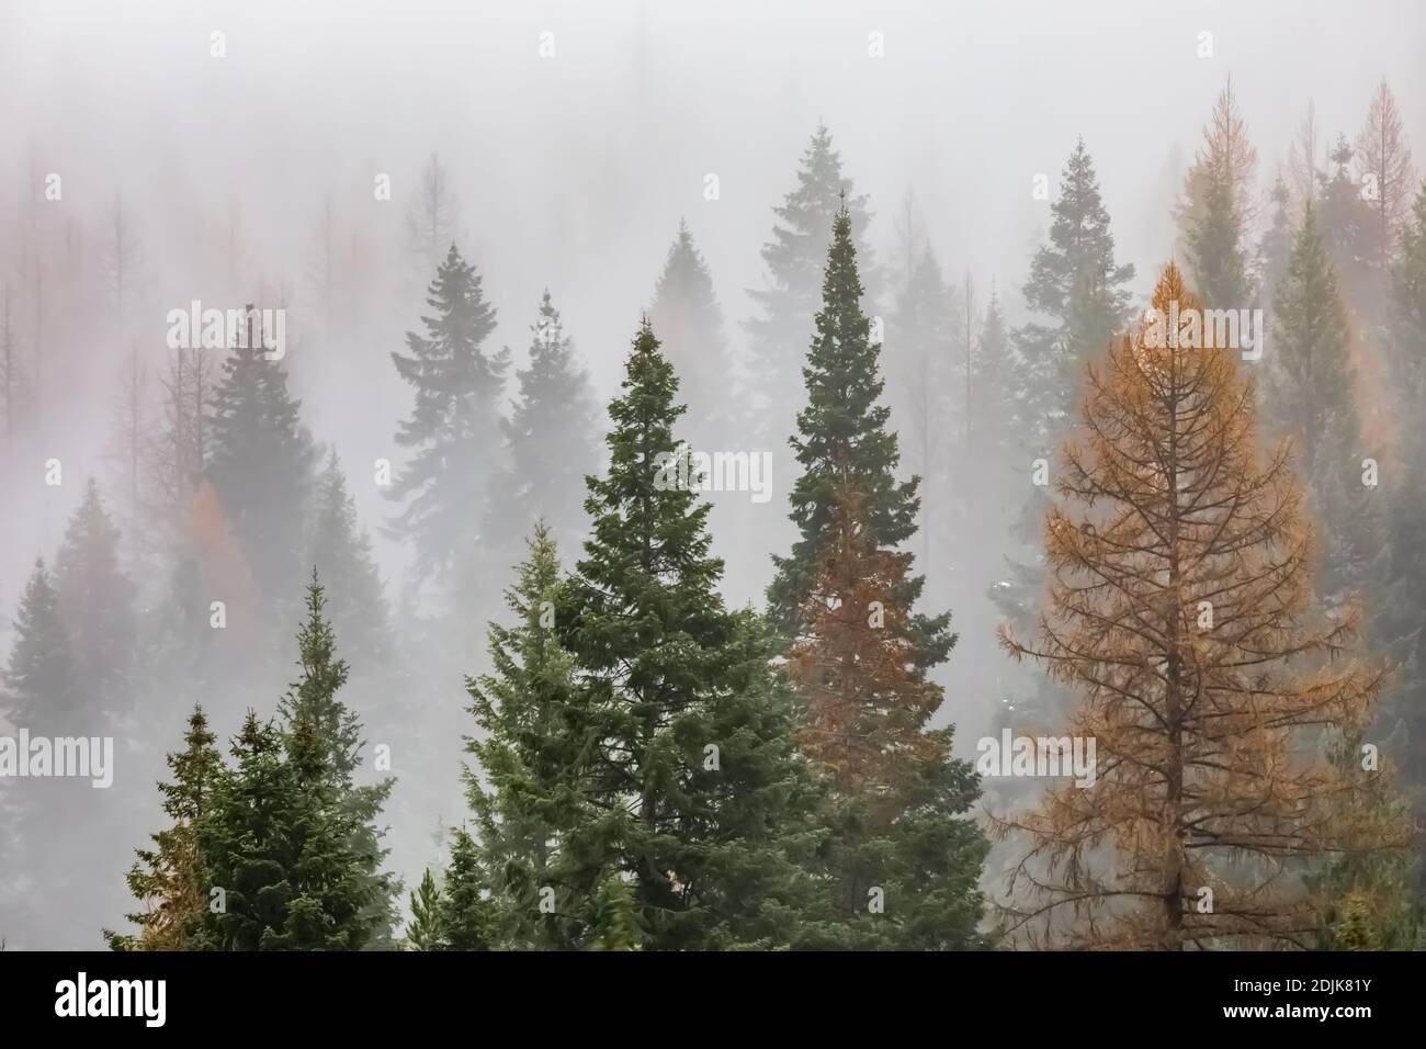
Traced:
<path id="1" fill-rule="evenodd" d="M 127 875 L 128 891 L 143 905 L 143 911 L 127 915 L 138 932 L 106 931 L 104 939 L 114 951 L 185 951 L 193 945 L 210 903 L 198 829 L 210 814 L 222 771 L 215 742 L 202 708 L 194 705 L 184 749 L 168 755 L 173 782 L 158 785 L 173 824 L 153 835 L 153 848 L 134 851 L 138 861 Z"/>

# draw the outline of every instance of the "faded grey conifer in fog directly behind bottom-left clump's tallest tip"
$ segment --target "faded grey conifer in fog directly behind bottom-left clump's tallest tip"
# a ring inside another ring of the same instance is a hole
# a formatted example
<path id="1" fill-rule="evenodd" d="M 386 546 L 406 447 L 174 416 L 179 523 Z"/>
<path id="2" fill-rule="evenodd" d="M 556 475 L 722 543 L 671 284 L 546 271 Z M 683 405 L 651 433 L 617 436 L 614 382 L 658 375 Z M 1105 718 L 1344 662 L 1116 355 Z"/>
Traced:
<path id="1" fill-rule="evenodd" d="M 328 618 L 351 651 L 382 658 L 391 644 L 386 597 L 371 554 L 371 538 L 356 518 L 356 502 L 332 448 L 317 480 L 317 507 L 308 562 L 322 578 Z"/>

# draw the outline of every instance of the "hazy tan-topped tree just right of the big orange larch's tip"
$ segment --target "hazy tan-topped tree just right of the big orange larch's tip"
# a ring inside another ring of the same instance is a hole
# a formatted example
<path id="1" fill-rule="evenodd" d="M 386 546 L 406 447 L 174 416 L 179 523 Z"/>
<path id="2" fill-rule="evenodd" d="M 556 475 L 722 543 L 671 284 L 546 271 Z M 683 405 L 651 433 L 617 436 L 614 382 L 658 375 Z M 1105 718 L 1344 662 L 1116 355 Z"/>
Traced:
<path id="1" fill-rule="evenodd" d="M 1248 140 L 1229 80 L 1204 128 L 1204 146 L 1189 168 L 1179 216 L 1195 287 L 1211 307 L 1239 310 L 1252 298 L 1245 227 L 1252 216 L 1256 170 L 1258 151 Z"/>

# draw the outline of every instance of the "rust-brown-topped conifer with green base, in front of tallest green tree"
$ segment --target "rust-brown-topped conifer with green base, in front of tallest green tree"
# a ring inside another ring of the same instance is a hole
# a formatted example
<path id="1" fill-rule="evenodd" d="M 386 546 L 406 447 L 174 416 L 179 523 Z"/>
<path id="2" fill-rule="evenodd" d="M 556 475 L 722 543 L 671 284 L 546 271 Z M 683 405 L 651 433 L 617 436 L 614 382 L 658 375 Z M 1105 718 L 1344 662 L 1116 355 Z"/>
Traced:
<path id="1" fill-rule="evenodd" d="M 831 921 L 801 945 L 964 949 L 981 918 L 987 843 L 964 818 L 980 788 L 953 729 L 930 728 L 944 696 L 927 678 L 955 637 L 950 615 L 911 614 L 913 555 L 878 547 L 867 507 L 838 490 L 787 659 L 803 751 L 830 789 L 814 871 Z"/>

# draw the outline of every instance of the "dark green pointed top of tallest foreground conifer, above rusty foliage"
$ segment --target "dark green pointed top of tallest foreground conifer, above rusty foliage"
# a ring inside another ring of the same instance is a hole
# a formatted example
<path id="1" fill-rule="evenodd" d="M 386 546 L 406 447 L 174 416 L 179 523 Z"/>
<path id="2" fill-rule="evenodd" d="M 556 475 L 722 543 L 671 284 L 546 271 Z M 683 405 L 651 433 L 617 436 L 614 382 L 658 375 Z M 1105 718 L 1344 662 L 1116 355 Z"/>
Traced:
<path id="1" fill-rule="evenodd" d="M 915 532 L 920 478 L 897 481 L 897 435 L 881 404 L 880 343 L 871 341 L 861 311 L 861 277 L 851 235 L 851 211 L 833 223 L 823 277 L 823 304 L 803 368 L 807 391 L 789 441 L 801 465 L 793 485 L 791 520 L 800 538 L 789 557 L 773 557 L 777 574 L 767 588 L 774 624 L 791 637 L 801 599 L 811 585 L 836 512 L 837 492 L 851 480 L 867 498 L 867 520 L 878 547 L 896 547 Z M 920 581 L 915 581 L 920 587 Z"/>

